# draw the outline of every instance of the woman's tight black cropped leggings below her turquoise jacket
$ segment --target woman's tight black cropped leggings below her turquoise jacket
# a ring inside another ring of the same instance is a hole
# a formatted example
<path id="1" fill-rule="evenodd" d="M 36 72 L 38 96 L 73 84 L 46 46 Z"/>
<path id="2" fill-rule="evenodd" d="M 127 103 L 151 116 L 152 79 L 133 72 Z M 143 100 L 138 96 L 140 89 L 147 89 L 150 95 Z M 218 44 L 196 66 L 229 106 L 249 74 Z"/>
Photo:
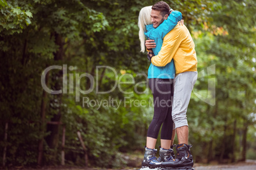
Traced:
<path id="1" fill-rule="evenodd" d="M 174 80 L 173 79 L 148 79 L 153 93 L 154 114 L 148 127 L 147 136 L 157 139 L 161 130 L 162 140 L 171 140 L 173 134 L 173 119 L 171 110 L 173 104 Z"/>

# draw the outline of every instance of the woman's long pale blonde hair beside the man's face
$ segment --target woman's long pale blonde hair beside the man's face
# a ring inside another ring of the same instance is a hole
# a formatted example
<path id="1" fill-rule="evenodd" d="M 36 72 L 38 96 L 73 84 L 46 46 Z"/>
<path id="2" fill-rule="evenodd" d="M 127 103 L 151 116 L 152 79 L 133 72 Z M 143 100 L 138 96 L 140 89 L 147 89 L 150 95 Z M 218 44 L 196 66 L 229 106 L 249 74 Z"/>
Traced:
<path id="1" fill-rule="evenodd" d="M 146 25 L 152 24 L 151 22 L 151 13 L 152 6 L 146 6 L 141 8 L 139 11 L 139 18 L 138 18 L 138 26 L 139 26 L 139 40 L 141 41 L 141 52 L 145 51 L 145 34 Z"/>

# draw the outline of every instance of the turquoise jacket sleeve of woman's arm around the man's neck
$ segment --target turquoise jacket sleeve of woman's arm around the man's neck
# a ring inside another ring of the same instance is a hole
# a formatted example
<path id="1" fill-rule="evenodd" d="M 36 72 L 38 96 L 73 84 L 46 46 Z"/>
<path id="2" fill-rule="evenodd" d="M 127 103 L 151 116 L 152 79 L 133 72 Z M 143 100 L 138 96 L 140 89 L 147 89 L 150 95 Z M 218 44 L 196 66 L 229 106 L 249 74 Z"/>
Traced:
<path id="1" fill-rule="evenodd" d="M 170 32 L 182 19 L 182 14 L 180 11 L 173 11 L 167 18 L 167 20 L 164 20 L 159 27 L 156 29 L 153 29 L 154 32 L 157 32 L 157 37 L 163 39 L 168 32 Z"/>

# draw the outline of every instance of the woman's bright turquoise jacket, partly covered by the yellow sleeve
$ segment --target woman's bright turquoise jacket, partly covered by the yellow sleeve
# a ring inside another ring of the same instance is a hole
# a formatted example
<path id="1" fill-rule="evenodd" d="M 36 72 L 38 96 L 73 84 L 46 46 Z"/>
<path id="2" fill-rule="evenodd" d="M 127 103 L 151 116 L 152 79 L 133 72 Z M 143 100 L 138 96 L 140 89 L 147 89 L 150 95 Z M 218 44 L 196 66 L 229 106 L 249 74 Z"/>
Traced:
<path id="1" fill-rule="evenodd" d="M 173 11 L 168 16 L 167 20 L 164 20 L 164 22 L 162 22 L 156 29 L 153 28 L 153 24 L 146 25 L 146 39 L 153 39 L 157 45 L 152 49 L 155 55 L 158 55 L 162 48 L 164 36 L 177 25 L 177 22 L 180 21 L 181 18 L 182 14 L 179 11 Z M 148 68 L 148 79 L 174 79 L 174 77 L 175 67 L 173 60 L 171 60 L 170 63 L 167 63 L 164 67 L 157 67 L 150 63 L 150 67 Z"/>

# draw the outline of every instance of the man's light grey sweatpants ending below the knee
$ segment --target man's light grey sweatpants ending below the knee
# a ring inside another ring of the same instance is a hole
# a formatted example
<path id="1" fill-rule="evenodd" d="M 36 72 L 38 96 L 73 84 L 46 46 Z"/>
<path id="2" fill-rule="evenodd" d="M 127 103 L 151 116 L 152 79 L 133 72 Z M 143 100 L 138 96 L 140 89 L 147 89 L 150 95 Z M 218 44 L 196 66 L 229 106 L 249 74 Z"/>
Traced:
<path id="1" fill-rule="evenodd" d="M 196 80 L 197 72 L 183 72 L 174 78 L 172 115 L 175 128 L 188 126 L 187 108 Z"/>

